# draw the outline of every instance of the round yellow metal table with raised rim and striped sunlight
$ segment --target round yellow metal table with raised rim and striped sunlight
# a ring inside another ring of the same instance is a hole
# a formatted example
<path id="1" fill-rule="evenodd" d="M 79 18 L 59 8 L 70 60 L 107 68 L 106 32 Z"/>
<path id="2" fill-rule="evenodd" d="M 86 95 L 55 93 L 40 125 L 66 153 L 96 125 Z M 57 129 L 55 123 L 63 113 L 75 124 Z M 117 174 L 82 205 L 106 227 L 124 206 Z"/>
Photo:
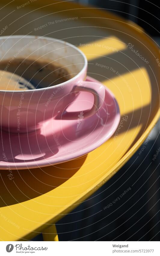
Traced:
<path id="1" fill-rule="evenodd" d="M 86 156 L 57 166 L 14 170 L 12 181 L 6 170 L 0 171 L 0 239 L 22 241 L 43 232 L 45 240 L 57 240 L 52 224 L 107 182 L 158 120 L 160 56 L 142 28 L 106 11 L 49 0 L 17 8 L 21 4 L 14 1 L 0 10 L 1 17 L 10 13 L 2 20 L 2 26 L 8 22 L 3 35 L 30 33 L 77 45 L 88 58 L 88 75 L 115 94 L 121 120 L 128 116 L 115 139 Z M 52 24 L 35 30 L 48 22 Z"/>

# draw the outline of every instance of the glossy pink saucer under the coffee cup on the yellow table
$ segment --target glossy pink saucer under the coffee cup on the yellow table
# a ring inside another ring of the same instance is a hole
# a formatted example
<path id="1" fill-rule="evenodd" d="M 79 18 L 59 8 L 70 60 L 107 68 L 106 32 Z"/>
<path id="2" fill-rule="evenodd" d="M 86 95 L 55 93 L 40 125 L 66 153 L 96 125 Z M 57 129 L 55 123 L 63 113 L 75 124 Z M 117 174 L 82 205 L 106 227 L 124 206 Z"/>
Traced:
<path id="1" fill-rule="evenodd" d="M 87 77 L 86 81 L 96 80 Z M 40 130 L 28 134 L 1 131 L 0 169 L 54 165 L 78 158 L 99 147 L 115 132 L 120 112 L 115 97 L 107 88 L 100 111 L 83 119 L 83 111 L 92 105 L 93 95 L 82 92 L 67 109 L 79 111 L 77 120 L 52 119 L 45 122 Z"/>

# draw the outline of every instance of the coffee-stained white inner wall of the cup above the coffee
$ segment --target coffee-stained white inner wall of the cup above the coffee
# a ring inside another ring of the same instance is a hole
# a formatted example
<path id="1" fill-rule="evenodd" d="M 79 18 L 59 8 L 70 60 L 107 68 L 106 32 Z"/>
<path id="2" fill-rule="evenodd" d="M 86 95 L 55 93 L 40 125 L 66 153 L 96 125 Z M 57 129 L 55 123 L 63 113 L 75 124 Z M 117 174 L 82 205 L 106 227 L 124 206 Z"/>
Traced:
<path id="1" fill-rule="evenodd" d="M 38 36 L 0 37 L 0 61 L 12 58 L 47 60 L 65 67 L 74 77 L 87 65 L 85 55 L 62 40 Z"/>

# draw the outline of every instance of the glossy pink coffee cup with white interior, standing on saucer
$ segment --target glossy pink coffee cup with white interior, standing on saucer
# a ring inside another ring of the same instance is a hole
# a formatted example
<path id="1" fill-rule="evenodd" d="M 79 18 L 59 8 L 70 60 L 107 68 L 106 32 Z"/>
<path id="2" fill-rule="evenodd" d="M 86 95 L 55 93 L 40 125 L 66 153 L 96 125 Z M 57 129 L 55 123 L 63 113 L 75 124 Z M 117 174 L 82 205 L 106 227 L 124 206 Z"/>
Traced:
<path id="1" fill-rule="evenodd" d="M 16 58 L 47 60 L 66 67 L 72 78 L 61 84 L 35 90 L 0 90 L 1 128 L 14 133 L 35 131 L 51 118 L 78 119 L 79 112 L 67 112 L 80 91 L 94 96 L 91 109 L 83 117 L 94 115 L 102 106 L 105 88 L 86 82 L 87 58 L 77 47 L 62 40 L 41 36 L 1 36 L 0 60 L 8 65 Z M 7 67 L 6 67 L 7 71 Z"/>

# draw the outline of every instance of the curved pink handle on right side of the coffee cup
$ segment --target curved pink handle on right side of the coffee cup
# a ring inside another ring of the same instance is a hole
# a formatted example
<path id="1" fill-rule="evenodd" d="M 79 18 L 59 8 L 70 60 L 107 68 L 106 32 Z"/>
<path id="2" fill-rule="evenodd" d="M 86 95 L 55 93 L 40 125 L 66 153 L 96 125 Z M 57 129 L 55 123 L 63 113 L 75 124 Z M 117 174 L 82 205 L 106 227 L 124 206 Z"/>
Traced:
<path id="1" fill-rule="evenodd" d="M 74 87 L 72 92 L 89 92 L 94 96 L 94 103 L 91 109 L 83 111 L 83 118 L 90 117 L 94 115 L 100 107 L 103 105 L 105 98 L 105 88 L 102 84 L 97 82 L 78 82 Z M 78 112 L 67 112 L 63 111 L 61 119 L 77 119 L 79 115 Z"/>

